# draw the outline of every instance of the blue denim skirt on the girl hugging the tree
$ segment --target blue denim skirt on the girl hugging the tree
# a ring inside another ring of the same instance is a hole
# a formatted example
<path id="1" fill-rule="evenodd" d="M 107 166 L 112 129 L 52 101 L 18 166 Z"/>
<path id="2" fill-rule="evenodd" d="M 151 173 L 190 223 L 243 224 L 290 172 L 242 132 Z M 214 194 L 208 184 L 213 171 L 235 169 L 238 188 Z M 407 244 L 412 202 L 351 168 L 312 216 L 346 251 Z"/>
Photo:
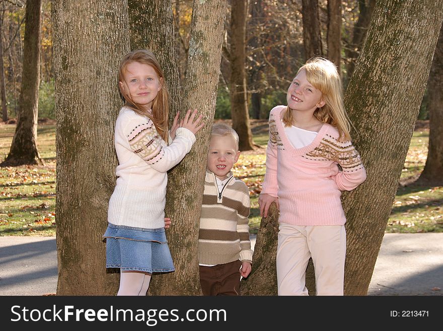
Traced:
<path id="1" fill-rule="evenodd" d="M 145 273 L 175 270 L 164 228 L 143 229 L 108 223 L 106 268 Z"/>

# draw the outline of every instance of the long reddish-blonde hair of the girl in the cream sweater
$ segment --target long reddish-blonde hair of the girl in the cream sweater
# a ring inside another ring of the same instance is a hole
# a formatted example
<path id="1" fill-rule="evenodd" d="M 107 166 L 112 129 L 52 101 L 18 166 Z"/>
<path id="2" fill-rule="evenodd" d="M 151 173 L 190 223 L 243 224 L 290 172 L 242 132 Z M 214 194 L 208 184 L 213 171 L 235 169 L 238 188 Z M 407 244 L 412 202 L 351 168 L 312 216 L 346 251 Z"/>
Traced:
<path id="1" fill-rule="evenodd" d="M 153 67 L 154 71 L 159 77 L 161 89 L 153 101 L 151 114 L 141 105 L 134 102 L 131 96 L 125 93 L 119 85 L 120 93 L 125 100 L 125 106 L 131 108 L 137 114 L 146 116 L 147 118 L 151 119 L 156 126 L 159 135 L 165 142 L 168 142 L 169 92 L 162 67 L 160 66 L 159 61 L 152 51 L 147 49 L 135 49 L 122 58 L 120 62 L 120 69 L 118 71 L 118 82 L 123 82 L 123 84 L 126 84 L 123 77 L 126 72 L 127 65 L 132 62 L 151 65 L 151 67 Z"/>

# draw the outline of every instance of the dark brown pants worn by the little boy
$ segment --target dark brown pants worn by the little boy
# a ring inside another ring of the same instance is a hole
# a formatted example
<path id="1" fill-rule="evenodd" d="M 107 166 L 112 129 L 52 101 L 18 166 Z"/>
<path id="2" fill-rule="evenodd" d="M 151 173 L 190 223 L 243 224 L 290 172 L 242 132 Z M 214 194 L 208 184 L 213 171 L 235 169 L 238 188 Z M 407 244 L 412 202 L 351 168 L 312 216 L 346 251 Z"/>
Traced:
<path id="1" fill-rule="evenodd" d="M 240 295 L 240 260 L 200 267 L 200 285 L 203 295 Z"/>

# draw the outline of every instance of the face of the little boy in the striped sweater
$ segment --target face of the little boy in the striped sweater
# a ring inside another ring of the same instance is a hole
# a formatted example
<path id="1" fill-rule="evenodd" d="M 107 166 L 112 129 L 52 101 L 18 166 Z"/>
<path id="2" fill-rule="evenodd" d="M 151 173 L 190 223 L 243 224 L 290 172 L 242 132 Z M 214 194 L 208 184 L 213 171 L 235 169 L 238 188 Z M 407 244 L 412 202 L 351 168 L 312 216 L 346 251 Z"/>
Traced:
<path id="1" fill-rule="evenodd" d="M 211 136 L 206 166 L 220 180 L 228 178 L 240 151 L 237 150 L 235 139 L 230 136 Z"/>

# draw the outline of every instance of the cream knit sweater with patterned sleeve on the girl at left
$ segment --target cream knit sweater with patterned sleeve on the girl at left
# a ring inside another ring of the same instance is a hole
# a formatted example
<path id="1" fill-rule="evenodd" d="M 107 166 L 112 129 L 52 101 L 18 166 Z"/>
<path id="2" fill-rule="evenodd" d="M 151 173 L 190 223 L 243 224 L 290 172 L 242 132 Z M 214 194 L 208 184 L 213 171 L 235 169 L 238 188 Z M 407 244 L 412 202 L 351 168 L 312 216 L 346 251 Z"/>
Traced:
<path id="1" fill-rule="evenodd" d="M 191 150 L 194 134 L 183 127 L 167 146 L 154 123 L 123 107 L 115 123 L 117 184 L 109 200 L 108 222 L 144 229 L 165 226 L 167 171 Z"/>

